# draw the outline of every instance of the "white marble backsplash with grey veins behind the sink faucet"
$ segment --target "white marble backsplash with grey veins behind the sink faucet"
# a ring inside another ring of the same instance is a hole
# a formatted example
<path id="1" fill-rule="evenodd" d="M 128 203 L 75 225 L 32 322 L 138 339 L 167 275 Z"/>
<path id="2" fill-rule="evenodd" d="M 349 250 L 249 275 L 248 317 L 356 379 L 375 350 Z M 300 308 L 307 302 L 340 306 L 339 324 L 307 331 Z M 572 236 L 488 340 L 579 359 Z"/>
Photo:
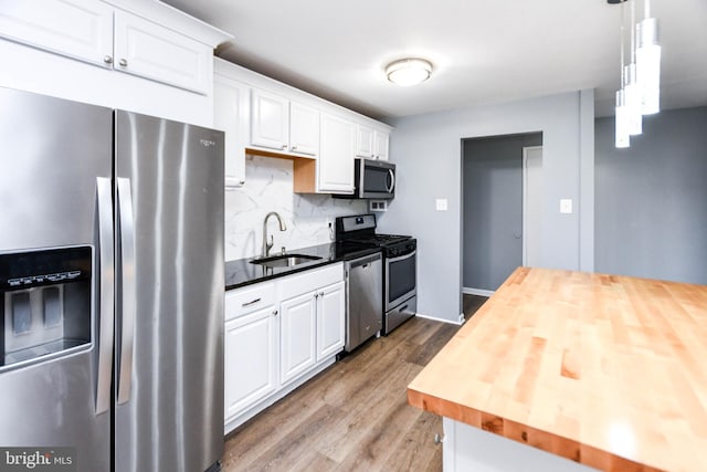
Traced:
<path id="1" fill-rule="evenodd" d="M 271 251 L 324 244 L 334 240 L 328 222 L 336 217 L 367 211 L 366 200 L 341 200 L 328 195 L 293 192 L 293 162 L 260 156 L 245 158 L 245 185 L 225 192 L 225 260 L 260 255 L 263 218 L 277 211 L 287 230 L 279 231 L 276 218 L 268 221 L 274 238 Z"/>

